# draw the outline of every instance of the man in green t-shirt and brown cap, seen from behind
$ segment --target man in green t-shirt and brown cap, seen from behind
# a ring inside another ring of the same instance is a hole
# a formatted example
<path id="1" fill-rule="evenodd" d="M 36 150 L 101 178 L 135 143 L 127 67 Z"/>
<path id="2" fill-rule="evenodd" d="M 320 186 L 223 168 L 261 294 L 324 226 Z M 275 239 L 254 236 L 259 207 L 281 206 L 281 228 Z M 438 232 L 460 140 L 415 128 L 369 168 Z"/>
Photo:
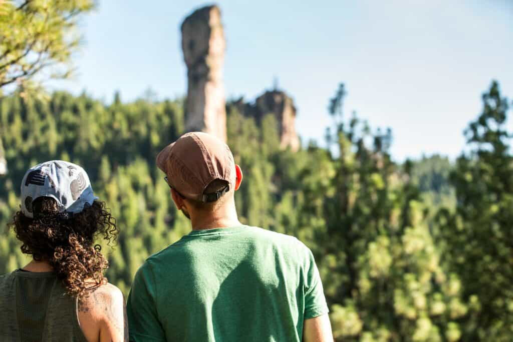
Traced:
<path id="1" fill-rule="evenodd" d="M 187 133 L 156 160 L 192 231 L 137 271 L 130 340 L 333 341 L 310 250 L 298 239 L 242 225 L 242 171 L 221 140 Z"/>

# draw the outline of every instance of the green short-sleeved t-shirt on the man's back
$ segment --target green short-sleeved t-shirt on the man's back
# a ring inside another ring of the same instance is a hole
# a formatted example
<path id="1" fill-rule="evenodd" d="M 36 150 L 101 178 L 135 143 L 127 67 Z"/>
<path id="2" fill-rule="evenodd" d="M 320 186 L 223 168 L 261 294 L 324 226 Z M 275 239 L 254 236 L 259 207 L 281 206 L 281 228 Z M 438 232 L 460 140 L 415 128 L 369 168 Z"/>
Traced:
<path id="1" fill-rule="evenodd" d="M 195 230 L 137 271 L 130 340 L 301 341 L 328 312 L 319 271 L 298 239 L 239 226 Z"/>

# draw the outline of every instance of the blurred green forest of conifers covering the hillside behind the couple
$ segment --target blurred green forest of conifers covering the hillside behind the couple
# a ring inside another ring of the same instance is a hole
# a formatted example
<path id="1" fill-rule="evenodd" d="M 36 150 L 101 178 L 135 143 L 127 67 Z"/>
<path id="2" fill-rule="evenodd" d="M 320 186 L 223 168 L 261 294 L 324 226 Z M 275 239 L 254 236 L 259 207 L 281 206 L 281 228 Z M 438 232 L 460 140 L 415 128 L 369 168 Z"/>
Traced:
<path id="1" fill-rule="evenodd" d="M 346 116 L 344 96 L 341 85 L 327 101 L 330 147 L 312 142 L 296 153 L 279 148 L 272 115 L 257 125 L 227 104 L 228 145 L 245 175 L 235 196 L 241 222 L 297 236 L 312 249 L 338 341 L 510 341 L 513 156 L 498 84 L 483 94 L 465 133 L 469 152 L 455 163 L 442 156 L 394 162 L 391 132 Z M 114 246 L 98 240 L 107 277 L 128 293 L 145 258 L 190 230 L 154 164 L 183 133 L 183 116 L 182 99 L 0 98 L 9 168 L 0 176 L 0 226 L 19 208 L 30 166 L 50 159 L 83 166 L 121 231 Z M 25 263 L 5 232 L 0 273 Z"/>

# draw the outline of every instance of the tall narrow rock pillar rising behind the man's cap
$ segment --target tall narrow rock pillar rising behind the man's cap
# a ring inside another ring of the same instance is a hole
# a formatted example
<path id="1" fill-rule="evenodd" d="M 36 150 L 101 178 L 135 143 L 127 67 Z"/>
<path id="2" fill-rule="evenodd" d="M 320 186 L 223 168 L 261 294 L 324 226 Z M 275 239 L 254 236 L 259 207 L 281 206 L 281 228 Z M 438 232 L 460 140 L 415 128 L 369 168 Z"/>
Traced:
<path id="1" fill-rule="evenodd" d="M 214 134 L 226 142 L 223 62 L 226 41 L 217 6 L 195 10 L 182 23 L 187 65 L 186 131 Z"/>

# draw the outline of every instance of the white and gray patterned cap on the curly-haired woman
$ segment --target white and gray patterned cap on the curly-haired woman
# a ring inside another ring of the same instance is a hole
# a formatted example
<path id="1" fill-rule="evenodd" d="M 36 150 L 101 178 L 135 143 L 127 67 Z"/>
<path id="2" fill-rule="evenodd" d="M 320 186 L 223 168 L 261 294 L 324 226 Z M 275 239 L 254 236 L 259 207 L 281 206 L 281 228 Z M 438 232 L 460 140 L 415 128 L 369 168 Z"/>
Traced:
<path id="1" fill-rule="evenodd" d="M 52 197 L 60 213 L 80 213 L 95 199 L 86 171 L 78 165 L 51 160 L 31 167 L 23 177 L 22 212 L 33 218 L 32 202 L 38 197 Z"/>

